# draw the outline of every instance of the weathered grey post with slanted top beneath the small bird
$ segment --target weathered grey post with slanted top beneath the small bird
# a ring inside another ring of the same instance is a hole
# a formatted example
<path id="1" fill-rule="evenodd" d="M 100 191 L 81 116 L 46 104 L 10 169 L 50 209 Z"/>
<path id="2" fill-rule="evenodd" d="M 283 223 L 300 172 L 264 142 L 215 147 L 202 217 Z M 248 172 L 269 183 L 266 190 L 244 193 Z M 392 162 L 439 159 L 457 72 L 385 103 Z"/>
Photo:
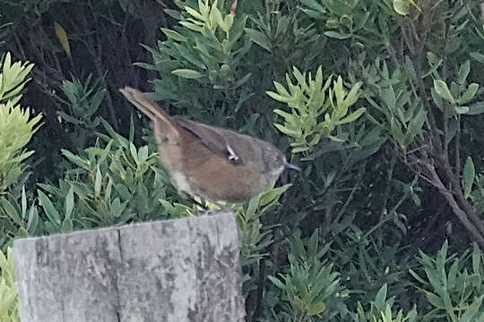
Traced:
<path id="1" fill-rule="evenodd" d="M 18 240 L 22 322 L 244 321 L 231 213 Z"/>

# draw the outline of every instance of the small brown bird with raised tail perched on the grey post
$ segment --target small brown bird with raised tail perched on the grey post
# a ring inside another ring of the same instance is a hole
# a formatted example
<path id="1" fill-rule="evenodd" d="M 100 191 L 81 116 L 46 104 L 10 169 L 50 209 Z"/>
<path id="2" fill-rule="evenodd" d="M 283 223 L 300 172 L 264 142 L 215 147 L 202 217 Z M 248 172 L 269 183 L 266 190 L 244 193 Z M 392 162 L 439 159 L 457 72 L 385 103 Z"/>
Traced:
<path id="1" fill-rule="evenodd" d="M 160 159 L 178 191 L 213 202 L 250 199 L 290 165 L 271 143 L 170 116 L 137 89 L 121 93 L 152 121 Z"/>

